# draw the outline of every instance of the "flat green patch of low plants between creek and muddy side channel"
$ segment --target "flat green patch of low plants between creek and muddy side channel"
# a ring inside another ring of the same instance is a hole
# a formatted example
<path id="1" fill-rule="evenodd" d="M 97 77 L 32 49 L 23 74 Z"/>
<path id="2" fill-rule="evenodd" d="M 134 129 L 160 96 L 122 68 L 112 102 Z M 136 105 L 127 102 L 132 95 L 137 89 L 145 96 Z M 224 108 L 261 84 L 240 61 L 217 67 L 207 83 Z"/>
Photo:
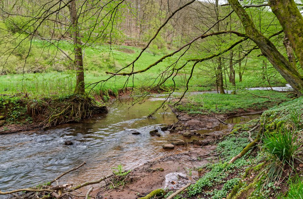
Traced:
<path id="1" fill-rule="evenodd" d="M 189 96 L 185 102 L 178 105 L 178 111 L 184 111 L 188 114 L 224 114 L 238 112 L 239 109 L 247 111 L 248 109 L 261 110 L 269 108 L 278 101 L 257 96 L 270 96 L 271 99 L 290 100 L 286 97 L 287 93 L 276 91 L 254 90 L 238 92 L 236 95 L 204 93 Z"/>

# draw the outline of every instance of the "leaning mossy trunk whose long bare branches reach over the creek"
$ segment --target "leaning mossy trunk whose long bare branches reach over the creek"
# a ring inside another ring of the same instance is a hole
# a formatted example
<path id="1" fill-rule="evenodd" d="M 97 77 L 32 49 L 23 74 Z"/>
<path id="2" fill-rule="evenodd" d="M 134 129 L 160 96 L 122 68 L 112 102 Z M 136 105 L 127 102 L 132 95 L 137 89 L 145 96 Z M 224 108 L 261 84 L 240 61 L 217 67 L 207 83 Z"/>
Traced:
<path id="1" fill-rule="evenodd" d="M 291 71 L 291 68 L 293 68 L 291 63 L 277 50 L 274 44 L 267 37 L 256 29 L 253 21 L 240 5 L 238 0 L 228 0 L 228 2 L 241 20 L 249 39 L 257 44 L 264 56 L 293 87 L 298 96 L 302 96 L 303 94 L 301 93 L 301 90 L 303 90 L 303 80 Z"/>

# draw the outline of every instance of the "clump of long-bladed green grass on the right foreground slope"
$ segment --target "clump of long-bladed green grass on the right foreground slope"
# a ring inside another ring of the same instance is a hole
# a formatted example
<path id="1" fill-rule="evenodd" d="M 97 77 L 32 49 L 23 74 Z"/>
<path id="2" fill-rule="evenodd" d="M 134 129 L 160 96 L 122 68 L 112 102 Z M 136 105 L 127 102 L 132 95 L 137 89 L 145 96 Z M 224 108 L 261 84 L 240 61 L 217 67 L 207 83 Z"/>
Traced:
<path id="1" fill-rule="evenodd" d="M 302 162 L 298 137 L 293 131 L 282 127 L 275 133 L 265 134 L 262 141 L 265 158 L 268 159 L 268 165 L 262 172 L 265 183 L 282 181 L 283 173 L 287 170 L 289 175 L 285 176 L 291 176 L 295 161 Z"/>

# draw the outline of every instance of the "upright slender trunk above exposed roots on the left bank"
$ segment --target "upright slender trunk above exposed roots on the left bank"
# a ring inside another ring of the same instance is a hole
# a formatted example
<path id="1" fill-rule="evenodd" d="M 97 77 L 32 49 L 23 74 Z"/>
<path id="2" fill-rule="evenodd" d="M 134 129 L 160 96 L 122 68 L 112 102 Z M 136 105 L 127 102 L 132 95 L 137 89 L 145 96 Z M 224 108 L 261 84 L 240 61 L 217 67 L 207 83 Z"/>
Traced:
<path id="1" fill-rule="evenodd" d="M 78 15 L 76 8 L 76 0 L 69 2 L 70 21 L 72 23 L 72 35 L 74 39 L 74 53 L 76 66 L 76 87 L 75 93 L 85 94 L 84 69 L 82 57 L 82 42 L 80 39 L 80 30 L 78 26 Z"/>

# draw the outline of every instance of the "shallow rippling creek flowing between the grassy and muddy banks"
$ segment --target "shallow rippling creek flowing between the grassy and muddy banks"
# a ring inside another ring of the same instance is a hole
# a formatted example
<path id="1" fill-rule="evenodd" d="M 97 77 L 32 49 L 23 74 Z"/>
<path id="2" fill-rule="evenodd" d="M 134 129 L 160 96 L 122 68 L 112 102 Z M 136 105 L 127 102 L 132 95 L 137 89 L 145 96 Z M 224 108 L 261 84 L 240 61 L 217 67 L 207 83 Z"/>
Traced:
<path id="1" fill-rule="evenodd" d="M 184 138 L 160 130 L 162 124 L 177 122 L 170 109 L 160 109 L 153 118 L 146 118 L 161 103 L 159 98 L 150 98 L 131 106 L 124 100 L 122 104 L 111 107 L 108 114 L 93 116 L 82 123 L 59 125 L 45 131 L 1 135 L 0 189 L 26 188 L 50 181 L 86 161 L 84 167 L 59 181 L 61 184 L 69 182 L 76 185 L 97 180 L 111 173 L 111 168 L 118 164 L 122 164 L 123 169 L 132 169 L 164 155 L 188 150 L 186 147 L 162 149 L 168 139 Z M 239 116 L 226 122 L 238 123 L 256 116 Z M 222 125 L 214 130 L 220 131 L 221 128 Z M 131 134 L 133 129 L 140 134 Z M 150 136 L 149 131 L 153 129 L 158 129 L 161 137 Z M 205 133 L 214 130 L 206 130 Z M 64 144 L 66 140 L 74 144 L 67 146 Z"/>

